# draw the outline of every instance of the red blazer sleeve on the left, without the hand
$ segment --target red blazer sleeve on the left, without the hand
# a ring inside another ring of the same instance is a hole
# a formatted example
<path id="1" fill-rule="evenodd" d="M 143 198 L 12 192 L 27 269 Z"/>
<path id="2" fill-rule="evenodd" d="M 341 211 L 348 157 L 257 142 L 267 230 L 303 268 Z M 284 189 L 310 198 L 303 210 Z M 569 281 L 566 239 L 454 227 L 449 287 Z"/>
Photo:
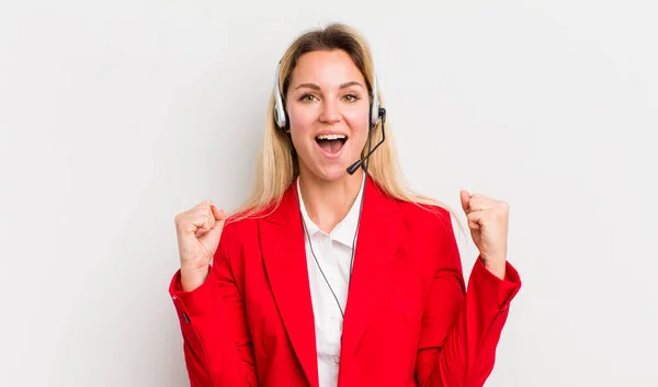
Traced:
<path id="1" fill-rule="evenodd" d="M 191 387 L 258 386 L 245 299 L 230 268 L 226 240 L 223 235 L 200 287 L 183 292 L 180 270 L 169 287 Z"/>

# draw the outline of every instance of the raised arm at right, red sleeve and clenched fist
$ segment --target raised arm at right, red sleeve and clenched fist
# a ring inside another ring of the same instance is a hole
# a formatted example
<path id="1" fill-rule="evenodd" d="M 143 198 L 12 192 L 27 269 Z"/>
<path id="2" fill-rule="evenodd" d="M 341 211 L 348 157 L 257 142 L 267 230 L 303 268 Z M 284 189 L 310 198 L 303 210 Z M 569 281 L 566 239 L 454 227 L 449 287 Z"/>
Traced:
<path id="1" fill-rule="evenodd" d="M 479 255 L 465 286 L 452 220 L 444 213 L 435 236 L 435 272 L 417 356 L 420 386 L 481 387 L 491 374 L 509 305 L 521 287 L 507 262 L 506 203 L 462 192 Z"/>

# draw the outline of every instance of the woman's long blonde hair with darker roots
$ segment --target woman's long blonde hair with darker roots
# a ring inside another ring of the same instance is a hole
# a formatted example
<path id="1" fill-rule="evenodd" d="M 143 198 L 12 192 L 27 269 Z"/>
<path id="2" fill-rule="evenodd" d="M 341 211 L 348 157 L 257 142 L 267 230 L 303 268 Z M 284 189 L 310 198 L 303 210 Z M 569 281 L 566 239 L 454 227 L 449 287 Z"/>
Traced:
<path id="1" fill-rule="evenodd" d="M 333 49 L 342 49 L 350 55 L 363 73 L 372 94 L 374 66 L 368 44 L 354 29 L 341 23 L 332 23 L 324 29 L 310 30 L 299 35 L 285 52 L 280 62 L 280 78 L 275 80 L 279 82 L 282 98 L 285 100 L 291 75 L 302 55 L 314 50 Z M 379 103 L 384 105 L 381 90 L 378 90 L 378 98 Z M 229 221 L 265 215 L 263 213 L 268 209 L 273 210 L 292 181 L 299 173 L 292 141 L 275 123 L 274 104 L 275 96 L 273 92 L 269 103 L 263 143 L 257 163 L 253 192 Z M 372 129 L 372 135 L 375 137 L 371 139 L 372 144 L 377 144 L 382 138 L 381 128 L 382 121 Z M 367 144 L 361 152 L 362 157 L 366 152 Z M 407 186 L 400 171 L 395 139 L 389 124 L 386 125 L 386 140 L 370 157 L 367 173 L 381 190 L 392 198 L 430 207 L 439 206 L 454 215 L 447 205 L 419 195 Z"/>

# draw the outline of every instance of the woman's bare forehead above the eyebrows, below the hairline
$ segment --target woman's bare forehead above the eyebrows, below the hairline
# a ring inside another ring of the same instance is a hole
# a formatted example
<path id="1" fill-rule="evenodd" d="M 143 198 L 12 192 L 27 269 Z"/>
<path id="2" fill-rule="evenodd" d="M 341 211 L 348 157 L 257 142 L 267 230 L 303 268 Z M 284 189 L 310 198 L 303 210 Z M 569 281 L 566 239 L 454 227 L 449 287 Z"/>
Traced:
<path id="1" fill-rule="evenodd" d="M 318 50 L 306 53 L 297 60 L 291 86 L 313 82 L 324 87 L 349 81 L 363 84 L 364 78 L 350 55 L 343 50 Z"/>

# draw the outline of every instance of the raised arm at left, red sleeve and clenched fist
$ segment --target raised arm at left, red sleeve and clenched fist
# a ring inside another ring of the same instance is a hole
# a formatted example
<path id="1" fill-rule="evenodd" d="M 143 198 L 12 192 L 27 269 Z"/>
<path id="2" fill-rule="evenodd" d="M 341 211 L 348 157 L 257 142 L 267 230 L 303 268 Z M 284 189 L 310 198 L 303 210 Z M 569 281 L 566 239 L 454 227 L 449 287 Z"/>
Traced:
<path id="1" fill-rule="evenodd" d="M 192 387 L 258 386 L 245 300 L 228 255 L 232 238 L 223 230 L 224 216 L 208 202 L 177 216 L 181 270 L 169 293 Z"/>

